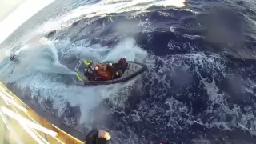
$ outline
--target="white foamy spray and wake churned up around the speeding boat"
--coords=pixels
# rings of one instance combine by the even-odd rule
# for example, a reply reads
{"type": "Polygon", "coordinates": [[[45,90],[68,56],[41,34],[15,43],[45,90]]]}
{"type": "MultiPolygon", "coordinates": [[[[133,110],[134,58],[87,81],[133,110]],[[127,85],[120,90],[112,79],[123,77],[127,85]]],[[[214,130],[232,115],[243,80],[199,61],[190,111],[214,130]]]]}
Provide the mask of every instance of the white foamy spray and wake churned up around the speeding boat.
{"type": "Polygon", "coordinates": [[[52,101],[52,108],[58,110],[59,117],[65,112],[67,102],[70,106],[80,106],[81,123],[90,122],[88,113],[98,106],[102,99],[114,98],[118,90],[132,83],[94,87],[66,85],[65,80],[74,76],[74,71],[59,62],[58,52],[65,58],[80,53],[81,59],[94,54],[94,57],[101,61],[116,61],[118,58],[126,57],[127,60],[142,62],[146,57],[146,51],[136,46],[133,38],[124,39],[108,50],[95,46],[74,46],[68,41],[63,43],[41,38],[38,42],[28,43],[17,56],[17,62],[2,62],[1,78],[6,83],[15,83],[22,91],[29,89],[31,98],[37,98],[42,107],[49,107],[46,106],[46,101],[52,101]],[[64,78],[62,74],[66,74],[64,78]]]}

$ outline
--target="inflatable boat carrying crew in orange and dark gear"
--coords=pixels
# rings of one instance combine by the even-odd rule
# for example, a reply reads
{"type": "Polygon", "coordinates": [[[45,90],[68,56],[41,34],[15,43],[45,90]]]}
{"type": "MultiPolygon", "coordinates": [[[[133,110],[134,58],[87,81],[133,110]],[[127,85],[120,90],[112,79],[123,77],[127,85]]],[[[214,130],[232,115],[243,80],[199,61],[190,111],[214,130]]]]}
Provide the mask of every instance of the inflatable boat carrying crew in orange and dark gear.
{"type": "Polygon", "coordinates": [[[118,62],[103,63],[80,60],[74,70],[79,82],[86,86],[97,86],[129,81],[146,71],[147,67],[121,58],[118,62]]]}

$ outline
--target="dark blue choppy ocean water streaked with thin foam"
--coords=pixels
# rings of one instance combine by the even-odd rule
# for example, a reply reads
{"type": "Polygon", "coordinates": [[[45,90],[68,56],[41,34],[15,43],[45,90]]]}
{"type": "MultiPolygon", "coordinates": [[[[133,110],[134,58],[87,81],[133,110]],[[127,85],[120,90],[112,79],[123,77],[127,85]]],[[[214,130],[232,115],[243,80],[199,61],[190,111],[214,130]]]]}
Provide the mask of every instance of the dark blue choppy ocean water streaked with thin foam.
{"type": "MultiPolygon", "coordinates": [[[[81,15],[45,36],[58,41],[55,46],[68,39],[69,50],[95,44],[100,50],[122,47],[126,38],[146,50],[142,62],[150,69],[128,86],[125,100],[118,91],[114,102],[104,98],[91,110],[86,125],[109,130],[111,143],[255,143],[255,10],[253,1],[191,0],[182,8],[149,6],[81,15]],[[120,99],[122,106],[115,103],[120,99]]],[[[79,57],[57,51],[59,62],[68,67],[79,57]]],[[[56,74],[56,81],[66,78],[56,74]]],[[[46,88],[40,90],[38,95],[46,88]]],[[[80,93],[75,90],[70,94],[80,93]]],[[[63,121],[75,126],[82,106],[77,110],[67,102],[63,109],[63,121]]]]}

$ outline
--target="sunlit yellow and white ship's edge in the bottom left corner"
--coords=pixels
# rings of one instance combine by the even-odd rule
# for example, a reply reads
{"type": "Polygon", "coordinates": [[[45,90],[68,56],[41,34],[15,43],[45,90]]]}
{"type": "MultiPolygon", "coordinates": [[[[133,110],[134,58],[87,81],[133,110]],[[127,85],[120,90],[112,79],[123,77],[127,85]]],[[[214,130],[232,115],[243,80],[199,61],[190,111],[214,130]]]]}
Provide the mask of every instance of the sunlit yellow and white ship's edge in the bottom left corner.
{"type": "Polygon", "coordinates": [[[0,117],[0,134],[2,134],[0,143],[83,143],[26,106],[2,82],[0,82],[0,117]]]}

